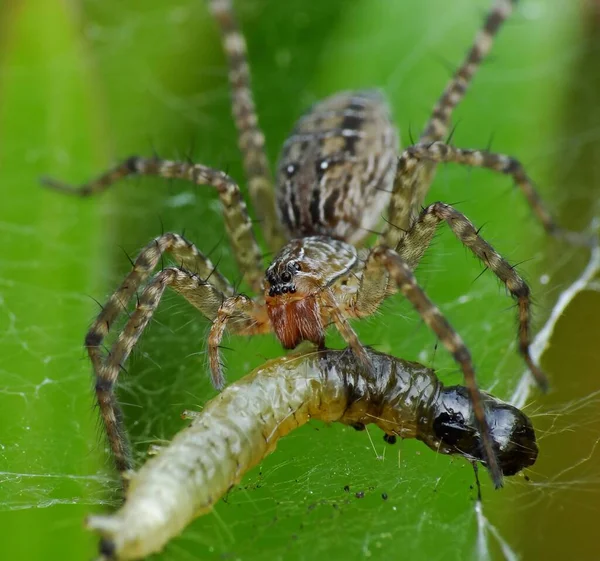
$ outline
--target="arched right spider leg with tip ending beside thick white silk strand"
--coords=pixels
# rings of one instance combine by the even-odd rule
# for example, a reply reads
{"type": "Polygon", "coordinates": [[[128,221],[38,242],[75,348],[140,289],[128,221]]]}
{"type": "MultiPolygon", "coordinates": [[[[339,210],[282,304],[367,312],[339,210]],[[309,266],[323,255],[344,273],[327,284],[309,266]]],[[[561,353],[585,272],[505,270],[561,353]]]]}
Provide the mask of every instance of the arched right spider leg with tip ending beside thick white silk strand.
{"type": "Polygon", "coordinates": [[[514,268],[494,250],[478,233],[469,219],[450,205],[434,203],[423,210],[419,220],[400,242],[398,254],[414,269],[429,246],[440,223],[446,222],[458,240],[469,248],[506,286],[517,300],[519,310],[518,341],[519,352],[531,370],[538,385],[547,389],[548,380],[539,366],[533,362],[531,346],[531,298],[529,286],[514,268]]]}

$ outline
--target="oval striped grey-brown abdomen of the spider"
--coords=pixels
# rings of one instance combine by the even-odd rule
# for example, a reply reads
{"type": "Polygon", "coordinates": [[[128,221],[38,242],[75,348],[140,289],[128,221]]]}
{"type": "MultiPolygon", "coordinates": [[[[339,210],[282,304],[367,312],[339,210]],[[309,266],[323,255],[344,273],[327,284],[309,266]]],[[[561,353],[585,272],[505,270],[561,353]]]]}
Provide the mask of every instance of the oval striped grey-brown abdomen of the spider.
{"type": "Polygon", "coordinates": [[[379,222],[396,173],[398,133],[383,95],[342,92],[296,123],[277,166],[277,207],[290,238],[357,243],[379,222]]]}

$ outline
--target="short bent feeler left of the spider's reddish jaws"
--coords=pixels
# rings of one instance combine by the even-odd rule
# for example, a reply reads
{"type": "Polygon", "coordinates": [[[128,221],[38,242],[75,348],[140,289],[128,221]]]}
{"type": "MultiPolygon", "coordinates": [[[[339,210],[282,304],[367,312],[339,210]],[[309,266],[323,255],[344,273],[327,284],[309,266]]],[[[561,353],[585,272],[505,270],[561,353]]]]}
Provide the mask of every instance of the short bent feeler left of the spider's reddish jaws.
{"type": "Polygon", "coordinates": [[[215,319],[208,336],[208,356],[212,383],[217,389],[223,389],[225,376],[219,347],[225,333],[229,328],[231,333],[237,335],[256,335],[271,331],[271,325],[264,305],[251,298],[238,294],[227,298],[215,314],[215,319]]]}

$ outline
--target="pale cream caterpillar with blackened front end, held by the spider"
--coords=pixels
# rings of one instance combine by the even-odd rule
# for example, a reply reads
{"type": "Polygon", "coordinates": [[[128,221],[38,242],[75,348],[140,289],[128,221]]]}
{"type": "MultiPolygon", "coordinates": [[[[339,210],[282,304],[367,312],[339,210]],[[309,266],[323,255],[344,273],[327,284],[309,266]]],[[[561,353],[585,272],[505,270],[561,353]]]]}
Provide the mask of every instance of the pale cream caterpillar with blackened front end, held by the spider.
{"type": "MultiPolygon", "coordinates": [[[[310,419],[359,430],[373,423],[388,442],[416,438],[436,452],[485,463],[466,388],[444,387],[433,370],[416,362],[367,352],[374,376],[352,353],[323,350],[271,360],[223,390],[131,475],[117,512],[88,517],[87,527],[101,535],[100,558],[141,559],[162,550],[273,452],[281,437],[310,419]]],[[[531,421],[482,396],[503,474],[533,465],[531,421]]]]}

